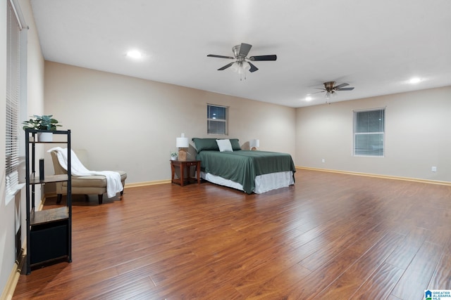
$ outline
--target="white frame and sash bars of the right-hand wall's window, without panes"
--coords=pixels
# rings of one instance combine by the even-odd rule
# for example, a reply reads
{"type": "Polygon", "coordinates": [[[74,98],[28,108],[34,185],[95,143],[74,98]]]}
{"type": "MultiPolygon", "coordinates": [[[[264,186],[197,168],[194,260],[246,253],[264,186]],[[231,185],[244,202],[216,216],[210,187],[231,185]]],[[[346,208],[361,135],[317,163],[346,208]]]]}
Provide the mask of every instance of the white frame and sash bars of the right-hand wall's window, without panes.
{"type": "Polygon", "coordinates": [[[352,137],[352,156],[356,157],[385,157],[385,107],[378,107],[378,108],[371,108],[367,110],[353,110],[353,116],[354,116],[354,134],[352,137]],[[379,127],[379,131],[361,131],[358,129],[358,122],[357,122],[357,115],[362,112],[382,112],[382,126],[379,127]],[[383,128],[381,128],[383,127],[383,128]],[[371,149],[363,149],[362,151],[357,150],[357,137],[358,136],[371,136],[371,135],[378,135],[382,136],[381,146],[382,149],[375,150],[371,153],[371,149]],[[364,152],[368,153],[364,153],[364,152]],[[380,151],[381,154],[378,154],[377,152],[380,151]]]}

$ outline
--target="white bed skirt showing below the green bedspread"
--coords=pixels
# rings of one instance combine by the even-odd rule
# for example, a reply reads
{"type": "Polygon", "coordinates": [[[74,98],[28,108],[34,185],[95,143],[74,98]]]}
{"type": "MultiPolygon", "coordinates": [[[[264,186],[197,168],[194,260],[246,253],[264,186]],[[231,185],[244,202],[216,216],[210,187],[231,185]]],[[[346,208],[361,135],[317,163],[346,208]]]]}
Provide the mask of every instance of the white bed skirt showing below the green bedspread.
{"type": "MultiPolygon", "coordinates": [[[[222,178],[221,176],[216,176],[205,172],[200,172],[200,176],[202,177],[202,179],[210,181],[211,183],[228,186],[229,188],[236,188],[237,190],[243,190],[240,183],[222,178]]],[[[295,180],[293,178],[292,171],[264,174],[259,175],[255,178],[255,189],[253,190],[253,192],[256,194],[261,194],[268,192],[268,190],[286,188],[293,184],[295,184],[295,180]]]]}

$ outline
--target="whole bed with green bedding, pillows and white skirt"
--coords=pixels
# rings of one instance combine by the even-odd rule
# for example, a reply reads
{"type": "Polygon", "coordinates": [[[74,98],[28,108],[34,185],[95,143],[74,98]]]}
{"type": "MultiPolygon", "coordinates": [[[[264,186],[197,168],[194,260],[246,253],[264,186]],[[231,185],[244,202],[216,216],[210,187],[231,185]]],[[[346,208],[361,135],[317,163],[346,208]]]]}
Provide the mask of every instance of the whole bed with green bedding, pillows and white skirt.
{"type": "Polygon", "coordinates": [[[266,193],[295,184],[295,164],[281,152],[241,150],[237,138],[192,138],[201,161],[200,176],[211,183],[266,193]]]}

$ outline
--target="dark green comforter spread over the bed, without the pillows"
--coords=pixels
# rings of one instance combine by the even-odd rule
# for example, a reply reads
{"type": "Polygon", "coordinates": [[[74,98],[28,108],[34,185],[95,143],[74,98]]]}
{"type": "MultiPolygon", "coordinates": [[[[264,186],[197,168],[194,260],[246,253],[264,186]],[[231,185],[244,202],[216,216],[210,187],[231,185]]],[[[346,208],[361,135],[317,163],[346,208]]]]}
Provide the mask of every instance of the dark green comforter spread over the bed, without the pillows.
{"type": "Polygon", "coordinates": [[[255,188],[255,177],[281,171],[292,171],[295,163],[288,153],[238,150],[219,152],[204,150],[197,154],[201,170],[240,183],[245,193],[255,188]]]}

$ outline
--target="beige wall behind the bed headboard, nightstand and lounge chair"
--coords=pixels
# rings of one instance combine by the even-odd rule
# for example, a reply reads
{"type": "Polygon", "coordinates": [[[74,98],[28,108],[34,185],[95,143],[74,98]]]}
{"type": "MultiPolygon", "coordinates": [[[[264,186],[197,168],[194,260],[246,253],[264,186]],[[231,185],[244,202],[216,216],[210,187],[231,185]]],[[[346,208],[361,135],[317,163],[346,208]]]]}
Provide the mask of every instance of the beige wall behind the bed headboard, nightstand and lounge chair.
{"type": "Polygon", "coordinates": [[[72,131],[73,149],[87,150],[89,169],[125,170],[127,183],[170,179],[180,133],[218,137],[206,134],[207,103],[230,107],[230,138],[259,138],[261,150],[294,157],[294,108],[45,63],[45,112],[72,131]]]}

